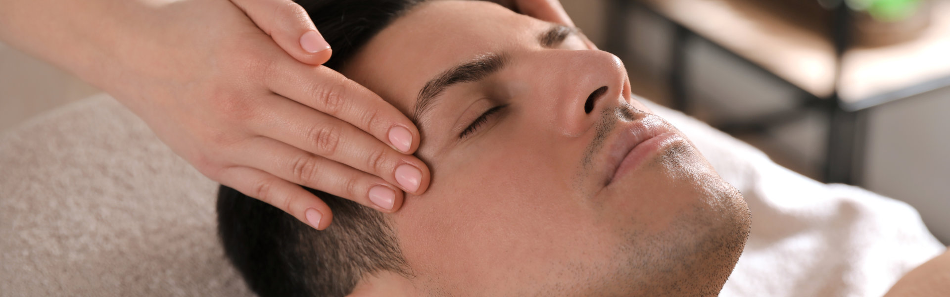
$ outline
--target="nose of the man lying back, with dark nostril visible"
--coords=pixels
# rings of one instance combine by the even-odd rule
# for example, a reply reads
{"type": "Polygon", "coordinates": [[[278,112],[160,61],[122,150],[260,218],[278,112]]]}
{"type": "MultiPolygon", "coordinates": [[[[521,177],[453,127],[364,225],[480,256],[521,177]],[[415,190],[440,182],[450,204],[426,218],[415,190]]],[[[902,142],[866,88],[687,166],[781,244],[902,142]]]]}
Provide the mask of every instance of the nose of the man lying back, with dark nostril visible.
{"type": "Polygon", "coordinates": [[[627,71],[620,59],[601,50],[551,50],[541,73],[549,74],[539,89],[551,100],[551,123],[566,136],[577,137],[590,129],[621,101],[629,102],[627,71]]]}

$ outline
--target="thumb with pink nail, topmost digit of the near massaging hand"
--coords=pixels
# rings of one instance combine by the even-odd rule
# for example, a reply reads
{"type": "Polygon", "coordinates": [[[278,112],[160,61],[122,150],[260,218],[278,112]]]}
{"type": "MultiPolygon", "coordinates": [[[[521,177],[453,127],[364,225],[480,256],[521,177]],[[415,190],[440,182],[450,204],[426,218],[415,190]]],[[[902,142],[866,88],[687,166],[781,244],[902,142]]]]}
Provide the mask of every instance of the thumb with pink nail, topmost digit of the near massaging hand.
{"type": "Polygon", "coordinates": [[[321,65],[330,60],[330,44],[316,30],[307,10],[291,0],[231,0],[260,30],[297,61],[321,65]]]}

